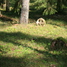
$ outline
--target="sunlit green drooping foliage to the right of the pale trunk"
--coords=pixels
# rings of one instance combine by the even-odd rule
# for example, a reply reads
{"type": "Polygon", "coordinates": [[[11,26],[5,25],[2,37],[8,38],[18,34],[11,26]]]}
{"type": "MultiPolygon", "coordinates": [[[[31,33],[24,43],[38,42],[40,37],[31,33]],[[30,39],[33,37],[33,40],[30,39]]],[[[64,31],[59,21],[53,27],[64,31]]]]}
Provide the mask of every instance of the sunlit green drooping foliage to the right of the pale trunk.
{"type": "Polygon", "coordinates": [[[48,1],[48,0],[36,0],[34,2],[35,9],[41,10],[43,9],[43,15],[51,15],[55,14],[56,11],[56,1],[48,1]]]}

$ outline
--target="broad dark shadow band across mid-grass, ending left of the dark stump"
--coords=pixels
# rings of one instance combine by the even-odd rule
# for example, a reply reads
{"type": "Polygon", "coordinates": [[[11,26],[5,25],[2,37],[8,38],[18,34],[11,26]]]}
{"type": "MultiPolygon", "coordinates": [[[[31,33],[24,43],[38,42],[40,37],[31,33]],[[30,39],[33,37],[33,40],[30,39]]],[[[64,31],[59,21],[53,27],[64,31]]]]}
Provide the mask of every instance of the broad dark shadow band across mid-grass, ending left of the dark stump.
{"type": "Polygon", "coordinates": [[[20,32],[17,32],[17,33],[0,32],[0,41],[13,43],[15,45],[21,45],[17,42],[17,40],[21,40],[21,39],[29,40],[29,41],[33,40],[36,43],[44,43],[44,44],[48,44],[52,40],[49,38],[32,36],[32,35],[24,34],[20,32]]]}

